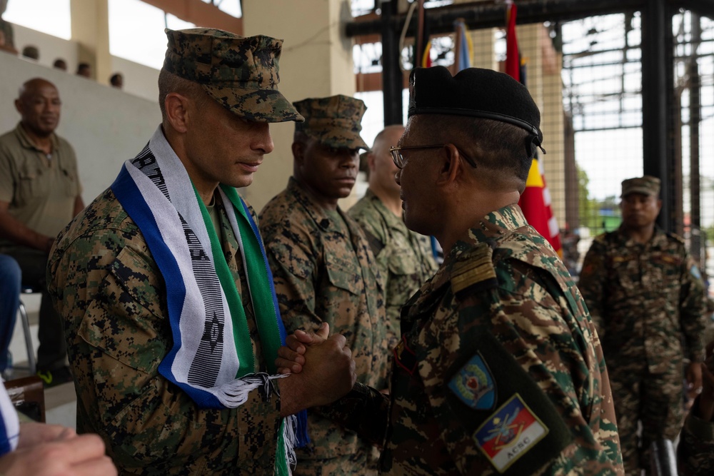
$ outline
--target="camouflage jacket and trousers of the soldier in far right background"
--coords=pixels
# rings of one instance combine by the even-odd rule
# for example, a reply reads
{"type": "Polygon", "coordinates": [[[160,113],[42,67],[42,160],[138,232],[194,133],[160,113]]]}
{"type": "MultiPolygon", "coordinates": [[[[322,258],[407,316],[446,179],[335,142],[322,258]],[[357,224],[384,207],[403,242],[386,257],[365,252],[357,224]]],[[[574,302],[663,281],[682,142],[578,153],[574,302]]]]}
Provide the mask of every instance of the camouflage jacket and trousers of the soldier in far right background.
{"type": "Polygon", "coordinates": [[[595,238],[578,286],[610,368],[625,470],[638,474],[650,443],[682,427],[683,358],[704,358],[703,283],[683,240],[655,229],[637,243],[620,227],[595,238]]]}

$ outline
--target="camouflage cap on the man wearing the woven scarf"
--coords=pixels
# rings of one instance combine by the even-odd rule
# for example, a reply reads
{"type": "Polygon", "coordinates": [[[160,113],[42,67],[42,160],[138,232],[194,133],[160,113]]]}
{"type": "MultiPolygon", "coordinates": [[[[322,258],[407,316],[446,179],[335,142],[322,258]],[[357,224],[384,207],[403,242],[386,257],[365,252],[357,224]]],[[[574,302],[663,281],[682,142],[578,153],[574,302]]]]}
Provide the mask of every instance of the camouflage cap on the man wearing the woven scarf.
{"type": "Polygon", "coordinates": [[[165,31],[169,73],[201,84],[221,106],[248,121],[303,120],[278,91],[283,40],[208,28],[165,31]]]}

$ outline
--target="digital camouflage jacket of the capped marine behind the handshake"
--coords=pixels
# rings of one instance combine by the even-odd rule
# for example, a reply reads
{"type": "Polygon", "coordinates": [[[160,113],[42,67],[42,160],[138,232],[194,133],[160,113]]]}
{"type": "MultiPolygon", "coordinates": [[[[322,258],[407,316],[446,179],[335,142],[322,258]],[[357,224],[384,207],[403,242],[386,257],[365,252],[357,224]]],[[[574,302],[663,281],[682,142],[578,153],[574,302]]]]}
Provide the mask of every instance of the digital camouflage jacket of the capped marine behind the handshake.
{"type": "MultiPolygon", "coordinates": [[[[374,257],[357,223],[339,211],[349,228],[338,224],[291,178],[285,191],[261,211],[261,234],[273,271],[278,305],[286,330],[316,330],[324,321],[331,333],[347,339],[357,380],[387,387],[384,300],[374,257]]],[[[312,451],[301,458],[352,455],[369,447],[353,432],[308,411],[312,451]]]]}

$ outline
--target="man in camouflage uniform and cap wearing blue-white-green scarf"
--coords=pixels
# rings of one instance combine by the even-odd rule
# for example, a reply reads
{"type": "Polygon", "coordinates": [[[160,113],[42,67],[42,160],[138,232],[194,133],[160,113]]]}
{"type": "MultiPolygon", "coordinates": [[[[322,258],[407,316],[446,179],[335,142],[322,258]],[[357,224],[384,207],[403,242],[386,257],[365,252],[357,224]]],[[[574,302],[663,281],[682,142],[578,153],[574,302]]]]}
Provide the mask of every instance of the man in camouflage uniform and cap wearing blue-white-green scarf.
{"type": "Polygon", "coordinates": [[[291,415],[347,393],[354,363],[338,335],[310,376],[274,366],[284,330],[235,187],[273,151],[269,123],[302,120],[277,88],[282,41],[166,34],[162,123],[49,263],[77,429],[102,437],[121,474],[287,475],[291,415]]]}

